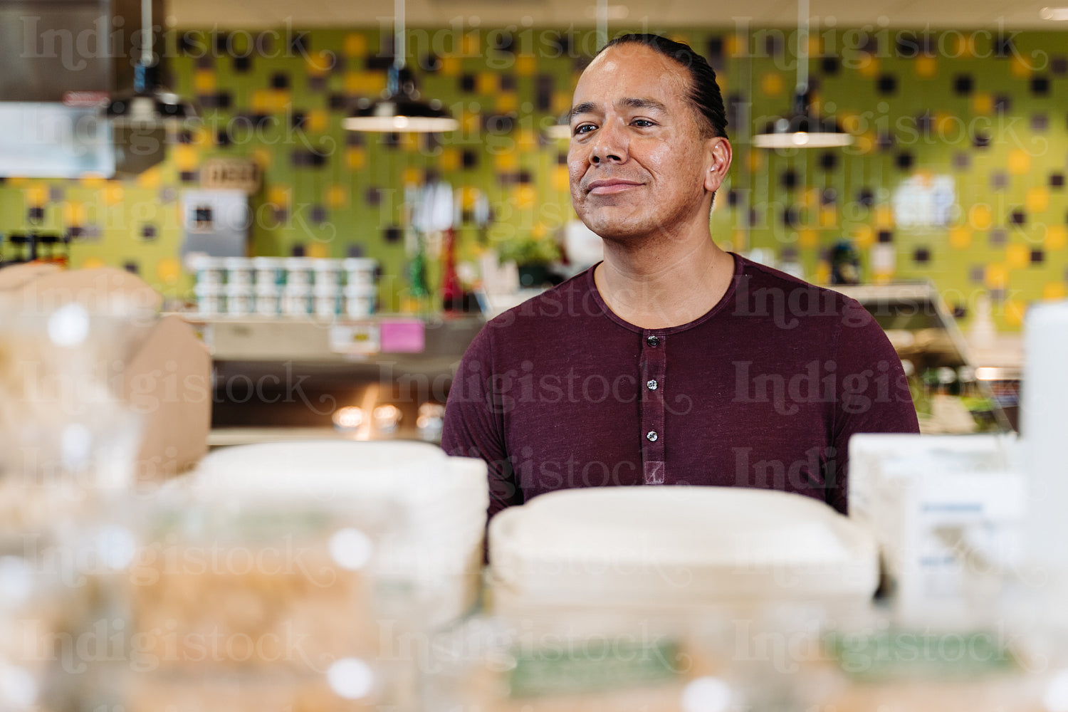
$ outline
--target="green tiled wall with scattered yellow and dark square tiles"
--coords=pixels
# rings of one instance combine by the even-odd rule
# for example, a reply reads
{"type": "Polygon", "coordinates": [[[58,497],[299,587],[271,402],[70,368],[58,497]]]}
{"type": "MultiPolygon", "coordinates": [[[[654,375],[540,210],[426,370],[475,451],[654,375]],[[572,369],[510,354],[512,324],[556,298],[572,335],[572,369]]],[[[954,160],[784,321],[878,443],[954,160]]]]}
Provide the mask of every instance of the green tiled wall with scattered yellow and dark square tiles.
{"type": "MultiPolygon", "coordinates": [[[[819,281],[835,241],[853,240],[865,263],[889,243],[896,267],[867,268],[869,280],[929,276],[964,322],[989,295],[1009,330],[1030,302],[1068,296],[1068,35],[814,27],[814,99],[858,141],[765,152],[749,139],[790,106],[795,33],[670,34],[708,57],[727,97],[735,165],[712,218],[724,247],[795,255],[819,281]],[[949,225],[895,224],[893,192],[914,175],[954,177],[949,225]]],[[[41,228],[78,236],[75,266],[126,266],[170,297],[188,296],[176,258],[180,193],[198,186],[205,159],[245,156],[264,175],[251,197],[252,254],[377,257],[387,308],[410,306],[405,183],[439,175],[467,205],[488,197],[488,231],[464,215],[460,259],[522,234],[551,239],[572,211],[566,143],[541,129],[568,108],[594,34],[411,29],[409,67],[461,129],[399,140],[347,132],[341,121],[354,101],[384,86],[390,41],[377,29],[172,32],[170,83],[197,100],[203,121],[174,131],[167,161],[137,178],[3,180],[0,232],[31,227],[41,208],[41,228]]]]}

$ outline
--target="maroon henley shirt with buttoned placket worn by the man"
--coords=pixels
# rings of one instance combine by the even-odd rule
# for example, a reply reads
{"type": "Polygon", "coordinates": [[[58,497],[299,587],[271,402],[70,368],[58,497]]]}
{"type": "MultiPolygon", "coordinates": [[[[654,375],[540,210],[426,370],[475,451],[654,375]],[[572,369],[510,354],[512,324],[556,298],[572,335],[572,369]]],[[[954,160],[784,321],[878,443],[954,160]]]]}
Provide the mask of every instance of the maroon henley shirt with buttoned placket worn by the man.
{"type": "Polygon", "coordinates": [[[640,329],[588,269],[491,319],[465,353],[442,447],[489,465],[489,516],[554,490],[717,485],[845,513],[849,437],[918,432],[908,382],[857,301],[734,255],[698,319],[640,329]]]}

